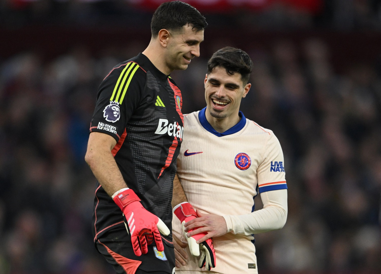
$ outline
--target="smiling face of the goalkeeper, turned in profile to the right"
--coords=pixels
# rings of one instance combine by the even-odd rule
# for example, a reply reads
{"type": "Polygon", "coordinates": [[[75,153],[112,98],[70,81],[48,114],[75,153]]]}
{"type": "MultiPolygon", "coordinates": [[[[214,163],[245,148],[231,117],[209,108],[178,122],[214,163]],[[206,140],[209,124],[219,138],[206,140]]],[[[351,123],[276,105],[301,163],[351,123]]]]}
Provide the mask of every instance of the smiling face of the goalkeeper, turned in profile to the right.
{"type": "Polygon", "coordinates": [[[200,56],[200,43],[203,40],[204,31],[195,31],[190,25],[183,26],[177,32],[171,31],[164,58],[168,70],[187,69],[191,60],[200,56]]]}

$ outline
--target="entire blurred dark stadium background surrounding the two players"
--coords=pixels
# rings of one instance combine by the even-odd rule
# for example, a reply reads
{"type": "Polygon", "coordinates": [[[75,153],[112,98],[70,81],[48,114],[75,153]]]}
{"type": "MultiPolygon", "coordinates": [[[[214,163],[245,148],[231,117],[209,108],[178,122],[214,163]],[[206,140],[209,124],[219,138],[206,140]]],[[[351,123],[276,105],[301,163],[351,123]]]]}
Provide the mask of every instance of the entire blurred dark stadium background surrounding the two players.
{"type": "MultiPolygon", "coordinates": [[[[92,245],[88,127],[99,83],[144,50],[160,2],[0,1],[0,274],[112,273],[92,245]]],[[[188,2],[209,27],[172,74],[183,113],[205,105],[211,54],[242,48],[255,65],[241,110],[285,154],[288,220],[256,235],[260,273],[381,273],[380,1],[188,2]]]]}

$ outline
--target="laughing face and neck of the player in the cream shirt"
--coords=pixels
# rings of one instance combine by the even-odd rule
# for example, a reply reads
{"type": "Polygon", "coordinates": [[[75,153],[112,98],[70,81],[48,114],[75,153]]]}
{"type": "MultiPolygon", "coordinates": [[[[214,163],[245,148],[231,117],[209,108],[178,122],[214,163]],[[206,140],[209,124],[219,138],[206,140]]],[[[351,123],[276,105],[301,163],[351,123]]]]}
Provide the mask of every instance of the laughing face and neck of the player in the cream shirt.
{"type": "Polygon", "coordinates": [[[229,75],[221,66],[207,74],[204,83],[207,101],[205,115],[212,127],[219,124],[227,130],[238,123],[241,99],[247,95],[251,84],[243,85],[241,74],[229,75]]]}

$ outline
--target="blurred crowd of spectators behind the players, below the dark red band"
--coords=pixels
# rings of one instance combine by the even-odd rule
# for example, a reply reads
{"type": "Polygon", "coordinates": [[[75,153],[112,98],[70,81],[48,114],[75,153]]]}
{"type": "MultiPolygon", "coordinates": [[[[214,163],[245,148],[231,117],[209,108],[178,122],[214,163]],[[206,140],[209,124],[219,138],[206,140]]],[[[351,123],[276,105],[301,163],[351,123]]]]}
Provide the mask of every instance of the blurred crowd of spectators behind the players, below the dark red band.
{"type": "MultiPolygon", "coordinates": [[[[102,54],[77,46],[50,59],[34,50],[0,59],[0,274],[112,273],[93,245],[95,178],[84,155],[98,86],[144,50],[133,44],[102,54]]],[[[208,45],[171,75],[184,114],[205,106],[210,54],[236,46],[224,37],[208,45]]],[[[241,111],[278,137],[288,183],[285,227],[255,235],[259,272],[381,273],[380,60],[348,56],[338,70],[337,48],[318,37],[295,43],[286,36],[243,50],[254,69],[241,111]]]]}

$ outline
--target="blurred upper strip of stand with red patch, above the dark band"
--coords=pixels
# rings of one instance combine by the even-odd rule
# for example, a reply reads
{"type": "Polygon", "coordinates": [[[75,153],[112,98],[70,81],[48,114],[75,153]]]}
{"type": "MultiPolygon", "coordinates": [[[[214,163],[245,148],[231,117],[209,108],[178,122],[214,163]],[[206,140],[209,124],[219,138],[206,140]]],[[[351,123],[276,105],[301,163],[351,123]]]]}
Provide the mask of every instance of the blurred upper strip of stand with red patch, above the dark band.
{"type": "MultiPolygon", "coordinates": [[[[149,27],[153,10],[164,0],[2,0],[0,25],[30,23],[149,27]],[[147,12],[148,11],[148,12],[147,12]],[[141,20],[143,18],[143,20],[141,20]]],[[[381,28],[380,0],[187,0],[207,15],[208,23],[256,29],[340,30],[381,28]],[[198,4],[198,5],[197,5],[198,4]],[[230,8],[229,8],[230,7],[230,8]]]]}

